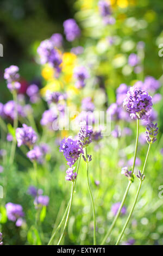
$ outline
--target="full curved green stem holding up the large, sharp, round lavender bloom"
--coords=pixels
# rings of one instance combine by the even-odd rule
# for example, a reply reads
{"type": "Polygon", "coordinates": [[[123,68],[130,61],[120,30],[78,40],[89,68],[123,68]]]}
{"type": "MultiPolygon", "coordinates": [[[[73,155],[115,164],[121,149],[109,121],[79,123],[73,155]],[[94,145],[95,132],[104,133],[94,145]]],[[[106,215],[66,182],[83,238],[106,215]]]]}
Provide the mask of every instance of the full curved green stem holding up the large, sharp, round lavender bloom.
{"type": "MultiPolygon", "coordinates": [[[[132,167],[132,174],[134,172],[134,168],[135,168],[135,161],[136,161],[136,155],[137,155],[137,145],[138,145],[138,141],[139,141],[139,119],[137,119],[137,130],[136,130],[136,142],[135,142],[135,153],[134,153],[134,162],[133,162],[133,167],[132,167]]],[[[118,217],[120,216],[120,213],[121,213],[121,210],[122,210],[122,207],[123,207],[123,204],[124,204],[124,201],[126,200],[126,197],[127,197],[127,194],[128,194],[128,191],[129,191],[129,188],[130,188],[130,185],[131,185],[131,181],[128,182],[128,186],[126,188],[126,191],[124,192],[124,196],[123,196],[123,199],[122,199],[122,202],[121,202],[121,205],[120,205],[120,208],[118,209],[117,211],[117,214],[116,216],[114,217],[114,221],[112,222],[111,226],[110,226],[110,229],[108,230],[108,233],[105,235],[101,245],[104,245],[106,239],[108,239],[108,236],[111,234],[111,231],[112,229],[115,227],[115,224],[117,222],[117,219],[118,217]]]]}

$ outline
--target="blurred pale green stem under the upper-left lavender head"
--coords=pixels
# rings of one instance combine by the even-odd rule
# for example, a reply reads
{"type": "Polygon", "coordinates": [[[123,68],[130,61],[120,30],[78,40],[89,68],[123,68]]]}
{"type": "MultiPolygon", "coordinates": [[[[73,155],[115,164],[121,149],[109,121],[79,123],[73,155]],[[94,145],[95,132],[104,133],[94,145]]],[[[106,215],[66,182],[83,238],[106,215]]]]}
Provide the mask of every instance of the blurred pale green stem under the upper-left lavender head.
{"type": "MultiPolygon", "coordinates": [[[[15,102],[15,108],[14,108],[14,130],[16,132],[17,125],[18,125],[18,119],[17,119],[17,93],[13,91],[13,100],[15,102]]],[[[12,140],[12,145],[11,145],[11,153],[10,153],[10,159],[9,163],[12,164],[14,161],[14,156],[15,156],[15,149],[16,149],[16,138],[14,137],[12,140]]]]}

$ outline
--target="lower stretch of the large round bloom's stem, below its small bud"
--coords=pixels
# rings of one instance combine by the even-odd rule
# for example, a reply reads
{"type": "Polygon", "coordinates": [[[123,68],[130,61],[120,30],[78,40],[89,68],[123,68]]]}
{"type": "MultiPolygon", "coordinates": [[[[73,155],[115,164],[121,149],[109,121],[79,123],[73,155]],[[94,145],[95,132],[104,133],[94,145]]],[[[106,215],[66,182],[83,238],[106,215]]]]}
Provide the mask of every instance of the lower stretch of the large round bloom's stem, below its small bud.
{"type": "Polygon", "coordinates": [[[103,239],[101,245],[104,245],[106,239],[107,239],[108,236],[111,234],[112,229],[115,227],[115,224],[116,224],[116,222],[117,222],[117,219],[118,219],[118,217],[119,217],[120,214],[121,214],[121,210],[122,210],[124,201],[126,200],[126,197],[127,197],[127,194],[128,194],[129,188],[130,188],[130,185],[131,185],[131,181],[128,182],[128,186],[127,186],[126,191],[125,191],[125,193],[124,193],[124,196],[123,196],[123,199],[122,199],[120,208],[118,209],[117,214],[116,214],[116,216],[115,216],[115,218],[114,218],[114,221],[112,222],[112,224],[111,224],[111,226],[110,226],[110,229],[108,230],[108,233],[105,235],[105,237],[104,237],[104,239],[103,239]]]}

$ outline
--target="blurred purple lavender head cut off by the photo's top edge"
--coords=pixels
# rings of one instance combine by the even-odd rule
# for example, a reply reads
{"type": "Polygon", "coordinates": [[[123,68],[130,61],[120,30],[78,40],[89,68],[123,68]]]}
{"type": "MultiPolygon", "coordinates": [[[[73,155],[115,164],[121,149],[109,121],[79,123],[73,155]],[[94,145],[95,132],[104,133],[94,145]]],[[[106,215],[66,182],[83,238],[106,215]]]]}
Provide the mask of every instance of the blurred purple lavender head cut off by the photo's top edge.
{"type": "Polygon", "coordinates": [[[114,17],[111,16],[112,10],[110,4],[104,0],[98,2],[99,13],[105,25],[112,25],[115,23],[114,17]]]}

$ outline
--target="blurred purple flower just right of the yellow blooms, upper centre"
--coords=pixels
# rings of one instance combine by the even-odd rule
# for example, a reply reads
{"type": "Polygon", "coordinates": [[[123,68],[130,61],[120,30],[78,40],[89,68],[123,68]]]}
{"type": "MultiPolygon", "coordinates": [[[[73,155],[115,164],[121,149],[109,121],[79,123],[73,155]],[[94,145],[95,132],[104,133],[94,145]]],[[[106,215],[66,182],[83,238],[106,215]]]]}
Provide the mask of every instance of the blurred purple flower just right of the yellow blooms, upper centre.
{"type": "Polygon", "coordinates": [[[74,78],[76,79],[76,87],[85,87],[85,80],[89,77],[89,74],[84,66],[77,66],[74,68],[74,78]]]}

